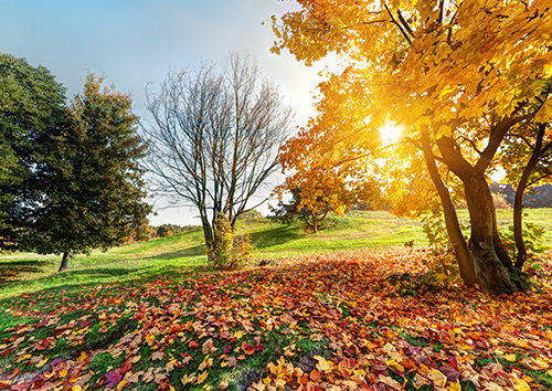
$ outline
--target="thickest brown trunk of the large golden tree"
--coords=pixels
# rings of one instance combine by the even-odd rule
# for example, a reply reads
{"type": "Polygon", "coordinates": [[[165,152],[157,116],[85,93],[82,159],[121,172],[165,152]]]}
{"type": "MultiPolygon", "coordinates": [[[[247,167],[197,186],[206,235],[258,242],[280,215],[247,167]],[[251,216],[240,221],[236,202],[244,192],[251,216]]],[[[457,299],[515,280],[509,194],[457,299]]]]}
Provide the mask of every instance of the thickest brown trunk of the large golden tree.
{"type": "Polygon", "coordinates": [[[517,292],[505,264],[511,264],[502,242],[498,239],[492,194],[482,172],[464,159],[456,142],[442,137],[437,146],[443,161],[463,181],[468,204],[471,235],[469,251],[476,260],[476,283],[493,295],[517,292]],[[507,260],[502,260],[506,255],[507,260]]]}

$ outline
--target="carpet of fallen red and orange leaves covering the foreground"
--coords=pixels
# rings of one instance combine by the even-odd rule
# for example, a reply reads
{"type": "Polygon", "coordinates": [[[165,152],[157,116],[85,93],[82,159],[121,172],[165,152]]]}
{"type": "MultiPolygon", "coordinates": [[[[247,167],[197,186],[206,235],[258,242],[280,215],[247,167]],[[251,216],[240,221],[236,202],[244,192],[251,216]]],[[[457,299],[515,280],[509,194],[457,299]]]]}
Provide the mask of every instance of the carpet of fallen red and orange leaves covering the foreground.
{"type": "Polygon", "coordinates": [[[418,284],[427,257],[361,249],[4,298],[0,388],[551,389],[551,258],[539,286],[490,297],[418,284]]]}

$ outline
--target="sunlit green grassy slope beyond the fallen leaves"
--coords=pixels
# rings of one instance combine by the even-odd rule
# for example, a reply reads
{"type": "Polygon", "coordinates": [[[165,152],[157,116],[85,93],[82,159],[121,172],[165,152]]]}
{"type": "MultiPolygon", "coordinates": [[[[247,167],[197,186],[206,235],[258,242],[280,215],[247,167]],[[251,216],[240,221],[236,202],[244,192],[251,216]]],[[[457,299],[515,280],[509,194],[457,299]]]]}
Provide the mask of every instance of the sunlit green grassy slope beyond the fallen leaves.
{"type": "MultiPolygon", "coordinates": [[[[459,211],[460,222],[467,224],[467,211],[459,211]]],[[[499,225],[507,228],[510,210],[498,211],[499,225]]],[[[545,229],[545,243],[552,246],[552,209],[528,210],[526,221],[545,229]]],[[[402,246],[414,240],[425,245],[426,240],[417,221],[396,218],[383,211],[354,211],[346,216],[330,215],[325,229],[306,233],[300,224],[282,225],[267,219],[243,222],[257,247],[255,257],[285,258],[331,251],[361,247],[402,246]]],[[[201,230],[160,237],[148,242],[115,247],[106,253],[93,252],[70,261],[68,271],[57,274],[59,256],[12,254],[0,256],[0,298],[23,292],[55,286],[77,286],[108,281],[131,281],[163,273],[170,268],[197,267],[206,262],[201,230]]]]}

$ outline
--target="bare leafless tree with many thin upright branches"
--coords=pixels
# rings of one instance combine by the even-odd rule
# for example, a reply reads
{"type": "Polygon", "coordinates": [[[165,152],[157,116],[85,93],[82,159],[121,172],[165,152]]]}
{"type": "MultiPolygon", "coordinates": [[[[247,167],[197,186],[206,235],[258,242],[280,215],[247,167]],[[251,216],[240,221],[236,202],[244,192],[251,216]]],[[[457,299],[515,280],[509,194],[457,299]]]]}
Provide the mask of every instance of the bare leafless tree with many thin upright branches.
{"type": "Polygon", "coordinates": [[[216,71],[170,72],[158,93],[147,92],[152,124],[149,170],[158,191],[199,210],[210,261],[216,220],[233,230],[255,192],[278,168],[278,149],[293,117],[277,85],[255,61],[233,53],[216,71]]]}

